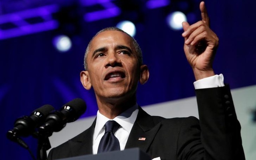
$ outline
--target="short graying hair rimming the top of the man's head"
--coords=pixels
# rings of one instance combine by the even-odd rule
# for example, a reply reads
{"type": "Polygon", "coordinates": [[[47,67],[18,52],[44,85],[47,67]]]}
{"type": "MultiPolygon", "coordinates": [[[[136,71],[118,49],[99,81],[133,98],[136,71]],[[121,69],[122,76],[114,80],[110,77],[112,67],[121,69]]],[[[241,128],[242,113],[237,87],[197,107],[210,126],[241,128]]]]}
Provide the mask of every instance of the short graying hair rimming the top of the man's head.
{"type": "MultiPolygon", "coordinates": [[[[138,54],[139,65],[141,66],[141,65],[143,64],[143,60],[142,60],[142,51],[141,51],[140,46],[139,46],[139,44],[137,43],[137,41],[136,41],[132,36],[130,36],[130,34],[124,32],[123,30],[121,30],[121,29],[119,29],[119,28],[117,28],[117,27],[107,27],[107,28],[104,28],[104,29],[100,30],[99,32],[97,32],[97,33],[95,34],[95,36],[97,36],[97,35],[100,34],[101,32],[109,31],[109,30],[116,30],[116,31],[119,31],[119,32],[123,32],[123,33],[127,34],[127,35],[131,38],[133,47],[135,48],[135,51],[136,51],[137,54],[138,54]]],[[[85,69],[85,70],[87,70],[87,68],[88,68],[86,59],[87,59],[88,52],[89,52],[89,50],[90,50],[90,45],[91,45],[92,40],[94,39],[95,36],[93,36],[92,39],[90,40],[90,42],[89,42],[89,44],[88,44],[88,46],[87,46],[87,48],[86,48],[85,54],[84,54],[84,69],[85,69]]]]}

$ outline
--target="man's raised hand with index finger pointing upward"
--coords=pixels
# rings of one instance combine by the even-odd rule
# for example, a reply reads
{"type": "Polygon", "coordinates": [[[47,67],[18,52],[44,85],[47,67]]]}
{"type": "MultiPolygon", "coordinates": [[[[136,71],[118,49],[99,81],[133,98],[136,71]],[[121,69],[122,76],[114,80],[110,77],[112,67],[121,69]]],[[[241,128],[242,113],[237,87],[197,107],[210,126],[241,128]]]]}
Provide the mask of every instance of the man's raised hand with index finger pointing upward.
{"type": "Polygon", "coordinates": [[[196,80],[214,75],[212,62],[219,39],[209,27],[209,17],[204,2],[200,3],[202,20],[189,25],[183,22],[184,52],[194,71],[196,80]]]}

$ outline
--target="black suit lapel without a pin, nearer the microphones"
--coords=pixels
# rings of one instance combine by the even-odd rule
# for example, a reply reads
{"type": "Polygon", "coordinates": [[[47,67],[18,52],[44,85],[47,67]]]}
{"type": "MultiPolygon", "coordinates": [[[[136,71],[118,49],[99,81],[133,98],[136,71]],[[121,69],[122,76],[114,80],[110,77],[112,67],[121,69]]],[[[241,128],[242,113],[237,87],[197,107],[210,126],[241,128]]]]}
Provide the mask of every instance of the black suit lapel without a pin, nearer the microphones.
{"type": "Polygon", "coordinates": [[[92,126],[82,132],[77,137],[69,140],[69,146],[72,150],[72,156],[81,156],[85,154],[92,154],[92,138],[96,119],[92,123],[92,126]]]}

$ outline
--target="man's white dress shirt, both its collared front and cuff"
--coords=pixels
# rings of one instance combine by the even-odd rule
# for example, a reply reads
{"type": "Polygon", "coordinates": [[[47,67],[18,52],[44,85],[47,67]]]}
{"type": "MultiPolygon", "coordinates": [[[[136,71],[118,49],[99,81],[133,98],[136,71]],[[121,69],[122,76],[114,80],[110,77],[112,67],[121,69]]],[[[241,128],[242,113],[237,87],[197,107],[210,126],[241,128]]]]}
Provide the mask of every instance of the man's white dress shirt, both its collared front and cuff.
{"type": "MultiPolygon", "coordinates": [[[[214,88],[214,87],[222,87],[224,86],[224,77],[222,74],[215,75],[207,78],[203,78],[201,80],[197,80],[194,82],[195,89],[202,88],[214,88]]],[[[114,134],[116,138],[118,138],[120,143],[120,150],[124,150],[126,142],[128,140],[128,136],[132,130],[132,126],[138,115],[138,104],[132,106],[122,114],[116,116],[113,120],[120,124],[120,127],[114,134]]],[[[92,142],[92,152],[93,154],[97,154],[98,146],[100,144],[100,140],[105,133],[105,123],[110,120],[106,116],[97,112],[96,125],[93,134],[93,142],[92,142]]]]}

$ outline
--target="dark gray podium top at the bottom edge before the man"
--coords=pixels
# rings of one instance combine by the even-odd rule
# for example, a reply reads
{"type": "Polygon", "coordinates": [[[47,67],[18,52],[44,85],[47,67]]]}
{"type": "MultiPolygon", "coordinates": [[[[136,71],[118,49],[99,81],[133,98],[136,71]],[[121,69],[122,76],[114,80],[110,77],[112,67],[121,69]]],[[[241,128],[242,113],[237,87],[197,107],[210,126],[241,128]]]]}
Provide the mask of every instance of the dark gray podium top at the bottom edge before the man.
{"type": "Polygon", "coordinates": [[[151,160],[151,158],[140,148],[129,148],[122,151],[103,152],[58,160],[151,160]]]}

